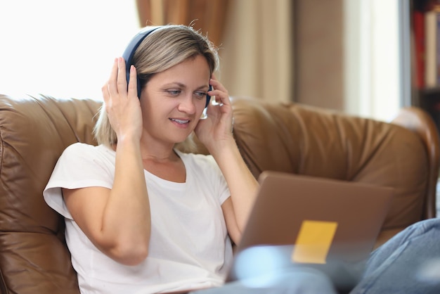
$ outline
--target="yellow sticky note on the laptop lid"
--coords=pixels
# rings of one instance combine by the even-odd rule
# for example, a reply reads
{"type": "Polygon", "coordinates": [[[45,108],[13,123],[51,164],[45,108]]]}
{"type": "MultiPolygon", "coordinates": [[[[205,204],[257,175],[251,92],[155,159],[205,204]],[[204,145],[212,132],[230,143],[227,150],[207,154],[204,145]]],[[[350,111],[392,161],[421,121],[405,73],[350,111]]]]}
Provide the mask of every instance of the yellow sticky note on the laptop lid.
{"type": "Polygon", "coordinates": [[[325,264],[336,229],[337,222],[302,222],[293,248],[292,261],[325,264]]]}

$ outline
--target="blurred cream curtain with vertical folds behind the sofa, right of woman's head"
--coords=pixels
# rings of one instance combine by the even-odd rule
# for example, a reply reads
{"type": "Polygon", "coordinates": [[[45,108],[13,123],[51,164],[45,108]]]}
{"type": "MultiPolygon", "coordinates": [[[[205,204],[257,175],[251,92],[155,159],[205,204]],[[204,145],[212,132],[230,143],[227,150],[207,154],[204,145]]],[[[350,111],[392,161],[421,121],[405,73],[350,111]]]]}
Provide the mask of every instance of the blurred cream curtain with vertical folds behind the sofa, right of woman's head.
{"type": "Polygon", "coordinates": [[[293,1],[230,1],[219,79],[231,96],[293,99],[293,1]]]}

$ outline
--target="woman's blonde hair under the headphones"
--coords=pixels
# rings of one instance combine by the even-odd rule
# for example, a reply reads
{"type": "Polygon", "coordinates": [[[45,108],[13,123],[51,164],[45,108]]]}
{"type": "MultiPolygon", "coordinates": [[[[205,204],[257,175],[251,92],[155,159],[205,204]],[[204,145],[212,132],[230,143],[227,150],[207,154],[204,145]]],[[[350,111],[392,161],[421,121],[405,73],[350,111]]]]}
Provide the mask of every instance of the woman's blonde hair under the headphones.
{"type": "MultiPolygon", "coordinates": [[[[164,25],[151,32],[138,46],[133,58],[141,81],[141,89],[158,72],[172,68],[188,58],[195,58],[198,55],[206,58],[211,74],[217,70],[219,56],[216,48],[207,37],[195,31],[193,27],[164,25]]],[[[110,125],[104,105],[99,110],[93,135],[98,144],[110,147],[117,143],[116,133],[110,125]]],[[[188,140],[191,138],[192,136],[189,136],[188,140]]],[[[184,149],[188,150],[193,143],[188,141],[183,142],[183,145],[184,149]]]]}

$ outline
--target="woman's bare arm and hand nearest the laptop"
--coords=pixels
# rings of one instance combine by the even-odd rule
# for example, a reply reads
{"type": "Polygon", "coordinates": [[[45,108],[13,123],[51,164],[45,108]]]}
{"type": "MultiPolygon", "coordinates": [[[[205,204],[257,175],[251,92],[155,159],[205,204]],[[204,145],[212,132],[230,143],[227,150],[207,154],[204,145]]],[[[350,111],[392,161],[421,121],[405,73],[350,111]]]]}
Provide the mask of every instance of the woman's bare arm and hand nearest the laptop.
{"type": "Polygon", "coordinates": [[[238,151],[238,146],[232,134],[232,106],[228,91],[216,79],[211,79],[214,87],[209,91],[219,105],[209,105],[207,120],[199,122],[195,132],[207,147],[220,167],[231,191],[222,205],[228,233],[235,243],[241,238],[247,218],[250,215],[254,199],[257,196],[259,184],[238,151]]]}

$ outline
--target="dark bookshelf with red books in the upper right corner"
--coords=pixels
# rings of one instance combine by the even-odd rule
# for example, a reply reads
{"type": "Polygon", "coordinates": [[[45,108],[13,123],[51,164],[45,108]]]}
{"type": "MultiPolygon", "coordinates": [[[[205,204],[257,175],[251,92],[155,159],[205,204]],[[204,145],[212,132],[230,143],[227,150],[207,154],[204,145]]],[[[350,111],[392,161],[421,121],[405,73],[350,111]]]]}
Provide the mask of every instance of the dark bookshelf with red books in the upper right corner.
{"type": "Polygon", "coordinates": [[[411,0],[409,12],[411,105],[440,130],[440,0],[411,0]]]}

